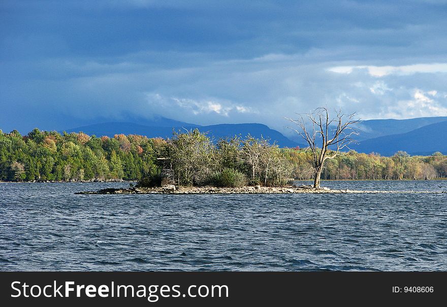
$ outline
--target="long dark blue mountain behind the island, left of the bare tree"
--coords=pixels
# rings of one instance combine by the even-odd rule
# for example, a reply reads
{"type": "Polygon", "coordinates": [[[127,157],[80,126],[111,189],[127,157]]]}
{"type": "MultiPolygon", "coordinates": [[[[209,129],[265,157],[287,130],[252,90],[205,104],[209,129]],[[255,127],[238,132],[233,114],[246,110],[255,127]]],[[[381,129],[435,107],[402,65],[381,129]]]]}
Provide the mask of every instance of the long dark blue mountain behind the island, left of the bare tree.
{"type": "MultiPolygon", "coordinates": [[[[175,122],[175,121],[173,121],[175,122]]],[[[270,139],[272,142],[276,142],[280,147],[296,147],[300,145],[296,142],[289,140],[284,137],[279,131],[270,129],[268,126],[263,124],[219,124],[219,125],[210,125],[210,126],[200,126],[194,124],[183,123],[182,125],[168,125],[169,121],[165,121],[165,126],[146,126],[141,124],[135,124],[130,122],[109,122],[109,123],[101,123],[101,124],[92,124],[82,127],[77,127],[73,129],[67,129],[66,132],[79,132],[82,131],[87,134],[94,134],[98,137],[102,135],[107,135],[108,137],[113,137],[115,134],[124,133],[124,134],[141,134],[146,135],[148,138],[171,138],[172,130],[178,130],[182,128],[185,129],[194,129],[198,128],[201,132],[209,132],[211,137],[215,139],[223,138],[223,137],[234,137],[234,135],[241,134],[245,137],[247,134],[251,134],[255,138],[260,138],[261,135],[270,139]]],[[[176,122],[179,123],[179,122],[176,122]]],[[[180,122],[181,123],[181,122],[180,122]]]]}

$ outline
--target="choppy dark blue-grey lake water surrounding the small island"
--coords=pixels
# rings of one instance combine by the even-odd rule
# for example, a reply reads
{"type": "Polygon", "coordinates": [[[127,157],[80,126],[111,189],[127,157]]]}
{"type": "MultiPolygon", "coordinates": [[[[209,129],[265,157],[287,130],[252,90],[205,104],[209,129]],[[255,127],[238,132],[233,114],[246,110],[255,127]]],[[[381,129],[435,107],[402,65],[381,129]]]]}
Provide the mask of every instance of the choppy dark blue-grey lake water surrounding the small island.
{"type": "Polygon", "coordinates": [[[74,194],[126,186],[0,183],[0,270],[447,269],[447,194],[74,194]]]}

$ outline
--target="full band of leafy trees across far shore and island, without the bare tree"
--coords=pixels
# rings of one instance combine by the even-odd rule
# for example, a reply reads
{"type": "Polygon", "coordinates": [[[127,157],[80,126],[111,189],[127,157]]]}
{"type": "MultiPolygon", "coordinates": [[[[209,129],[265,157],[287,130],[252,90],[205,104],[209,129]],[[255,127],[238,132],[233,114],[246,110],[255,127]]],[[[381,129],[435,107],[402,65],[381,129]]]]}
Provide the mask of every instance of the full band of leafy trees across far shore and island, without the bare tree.
{"type": "MultiPolygon", "coordinates": [[[[250,135],[213,140],[198,130],[174,131],[172,138],[113,138],[34,129],[27,135],[0,130],[0,181],[139,180],[157,184],[172,168],[181,185],[282,185],[311,179],[312,153],[279,148],[250,135]]],[[[447,156],[391,157],[346,152],[328,160],[323,180],[400,180],[447,177],[447,156]]]]}

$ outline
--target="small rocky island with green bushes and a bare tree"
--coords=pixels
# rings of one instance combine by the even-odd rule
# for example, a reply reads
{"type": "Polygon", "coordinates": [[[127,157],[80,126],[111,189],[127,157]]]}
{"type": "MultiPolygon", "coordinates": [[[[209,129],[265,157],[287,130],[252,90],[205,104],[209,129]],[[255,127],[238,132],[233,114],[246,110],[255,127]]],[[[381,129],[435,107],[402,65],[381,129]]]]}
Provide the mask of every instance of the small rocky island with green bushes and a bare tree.
{"type": "MultiPolygon", "coordinates": [[[[320,186],[325,162],[352,154],[355,114],[336,112],[330,119],[326,108],[318,108],[298,120],[294,129],[309,145],[313,185],[295,186],[283,151],[269,140],[246,138],[211,140],[198,129],[180,133],[165,142],[157,153],[158,168],[149,170],[137,186],[107,188],[76,194],[277,194],[277,193],[408,193],[402,191],[333,190],[320,186]],[[310,128],[306,122],[312,123],[310,128]],[[331,127],[335,128],[331,129],[331,127]],[[319,143],[319,146],[317,146],[319,143]],[[158,170],[157,170],[158,169],[158,170]]],[[[411,191],[410,193],[415,193],[411,191]]],[[[419,191],[416,193],[430,193],[419,191]]],[[[437,192],[441,193],[441,192],[437,192]]]]}

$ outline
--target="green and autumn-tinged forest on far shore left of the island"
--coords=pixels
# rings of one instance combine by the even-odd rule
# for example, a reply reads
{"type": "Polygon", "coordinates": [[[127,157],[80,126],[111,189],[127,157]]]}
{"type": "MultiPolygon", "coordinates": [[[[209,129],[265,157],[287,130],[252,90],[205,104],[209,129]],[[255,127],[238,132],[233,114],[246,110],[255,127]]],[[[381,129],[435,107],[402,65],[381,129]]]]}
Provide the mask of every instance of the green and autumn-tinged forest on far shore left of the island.
{"type": "Polygon", "coordinates": [[[34,129],[22,136],[0,130],[0,180],[138,180],[156,172],[154,156],[164,142],[132,134],[97,138],[34,129]]]}

